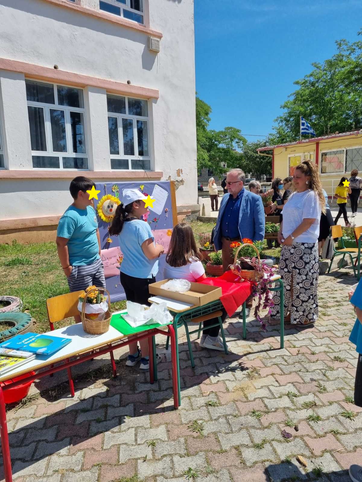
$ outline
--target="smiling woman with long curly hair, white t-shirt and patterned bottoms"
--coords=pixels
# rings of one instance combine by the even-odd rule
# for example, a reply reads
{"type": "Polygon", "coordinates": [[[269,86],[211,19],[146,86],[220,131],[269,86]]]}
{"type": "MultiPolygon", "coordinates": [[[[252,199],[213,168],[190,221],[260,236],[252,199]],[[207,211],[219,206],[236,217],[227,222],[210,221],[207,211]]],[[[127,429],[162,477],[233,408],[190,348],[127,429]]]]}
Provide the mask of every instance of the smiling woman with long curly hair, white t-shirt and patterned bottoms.
{"type": "MultiPolygon", "coordinates": [[[[318,319],[318,236],[320,213],[325,213],[322,186],[314,162],[295,168],[295,191],[284,205],[278,232],[282,245],[279,274],[284,281],[284,320],[306,326],[318,319]]],[[[275,292],[272,317],[279,317],[279,293],[275,292]]]]}

